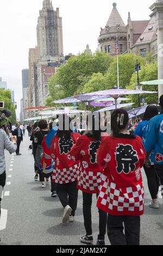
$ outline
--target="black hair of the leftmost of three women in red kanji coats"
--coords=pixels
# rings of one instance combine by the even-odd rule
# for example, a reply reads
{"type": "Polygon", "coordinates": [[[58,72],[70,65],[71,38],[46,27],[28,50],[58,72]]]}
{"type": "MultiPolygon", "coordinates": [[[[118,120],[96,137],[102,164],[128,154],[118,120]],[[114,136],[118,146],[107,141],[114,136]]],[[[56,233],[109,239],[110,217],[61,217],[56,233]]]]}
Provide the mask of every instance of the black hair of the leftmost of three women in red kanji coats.
{"type": "Polygon", "coordinates": [[[57,137],[58,138],[70,138],[71,137],[71,133],[73,132],[73,130],[71,130],[70,127],[70,123],[71,123],[71,118],[68,117],[67,115],[59,115],[59,130],[57,132],[57,137]],[[67,130],[67,127],[65,127],[65,120],[68,120],[68,125],[69,125],[69,130],[67,130]],[[61,122],[62,122],[62,128],[61,128],[61,122]]]}

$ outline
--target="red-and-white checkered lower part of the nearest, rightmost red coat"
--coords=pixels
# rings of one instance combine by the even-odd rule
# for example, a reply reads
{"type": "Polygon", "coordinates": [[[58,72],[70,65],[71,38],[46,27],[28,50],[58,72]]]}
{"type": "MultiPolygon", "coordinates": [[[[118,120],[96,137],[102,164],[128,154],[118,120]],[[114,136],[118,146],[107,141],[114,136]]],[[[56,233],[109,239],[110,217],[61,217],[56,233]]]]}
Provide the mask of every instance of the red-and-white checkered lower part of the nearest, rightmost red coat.
{"type": "Polygon", "coordinates": [[[143,211],[144,188],[141,185],[118,189],[114,182],[109,182],[107,176],[102,175],[102,183],[99,188],[98,206],[108,212],[118,215],[134,215],[143,211]]]}

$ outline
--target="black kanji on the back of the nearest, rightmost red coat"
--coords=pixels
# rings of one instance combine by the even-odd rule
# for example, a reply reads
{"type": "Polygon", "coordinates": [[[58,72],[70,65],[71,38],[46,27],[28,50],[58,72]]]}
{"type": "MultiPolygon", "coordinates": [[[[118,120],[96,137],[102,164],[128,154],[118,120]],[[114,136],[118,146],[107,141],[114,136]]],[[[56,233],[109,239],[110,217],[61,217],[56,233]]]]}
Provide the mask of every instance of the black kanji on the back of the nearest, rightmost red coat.
{"type": "Polygon", "coordinates": [[[133,173],[136,168],[136,163],[139,161],[137,152],[131,145],[119,144],[116,150],[117,172],[121,174],[133,173]]]}

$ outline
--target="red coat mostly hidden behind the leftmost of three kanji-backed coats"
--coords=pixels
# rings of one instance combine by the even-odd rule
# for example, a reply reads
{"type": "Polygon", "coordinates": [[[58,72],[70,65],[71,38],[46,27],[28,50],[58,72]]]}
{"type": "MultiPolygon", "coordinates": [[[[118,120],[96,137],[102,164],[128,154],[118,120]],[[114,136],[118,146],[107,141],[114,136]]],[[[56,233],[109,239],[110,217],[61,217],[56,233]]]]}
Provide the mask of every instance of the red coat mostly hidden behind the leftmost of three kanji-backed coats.
{"type": "Polygon", "coordinates": [[[46,140],[46,136],[43,138],[43,141],[42,141],[43,155],[42,155],[39,169],[41,170],[41,172],[45,174],[50,174],[53,172],[51,149],[47,147],[45,140],[46,140]]]}

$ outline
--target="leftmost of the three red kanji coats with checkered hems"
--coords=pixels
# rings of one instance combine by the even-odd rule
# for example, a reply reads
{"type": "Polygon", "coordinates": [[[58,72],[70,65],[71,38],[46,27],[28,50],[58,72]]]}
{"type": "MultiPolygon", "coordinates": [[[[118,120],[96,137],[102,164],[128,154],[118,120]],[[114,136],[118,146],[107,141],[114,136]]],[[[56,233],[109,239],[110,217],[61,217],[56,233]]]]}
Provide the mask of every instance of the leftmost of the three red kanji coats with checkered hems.
{"type": "Polygon", "coordinates": [[[58,184],[66,184],[77,180],[79,170],[78,162],[68,159],[68,154],[74,144],[77,143],[79,133],[71,133],[71,137],[54,137],[51,144],[51,157],[55,160],[52,181],[58,184]]]}

